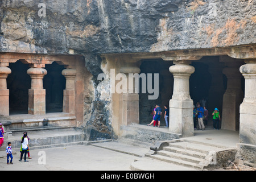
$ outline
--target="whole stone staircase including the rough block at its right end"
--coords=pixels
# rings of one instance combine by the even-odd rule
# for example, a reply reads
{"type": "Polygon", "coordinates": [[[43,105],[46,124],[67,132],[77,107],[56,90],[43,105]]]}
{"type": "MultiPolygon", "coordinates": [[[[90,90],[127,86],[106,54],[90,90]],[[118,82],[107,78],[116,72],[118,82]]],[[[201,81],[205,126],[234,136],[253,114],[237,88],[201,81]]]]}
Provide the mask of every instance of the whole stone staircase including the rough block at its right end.
{"type": "Polygon", "coordinates": [[[235,155],[235,148],[179,139],[157,142],[145,157],[203,170],[225,166],[235,155]]]}

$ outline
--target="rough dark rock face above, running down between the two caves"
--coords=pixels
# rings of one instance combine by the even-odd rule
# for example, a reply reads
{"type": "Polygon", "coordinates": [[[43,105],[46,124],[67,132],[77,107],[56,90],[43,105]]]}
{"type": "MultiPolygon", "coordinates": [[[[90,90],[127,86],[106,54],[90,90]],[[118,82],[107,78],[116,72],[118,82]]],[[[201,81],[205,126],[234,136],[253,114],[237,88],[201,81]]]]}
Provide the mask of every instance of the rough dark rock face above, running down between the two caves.
{"type": "Polygon", "coordinates": [[[0,52],[84,55],[93,75],[85,119],[92,135],[109,138],[110,101],[96,81],[103,72],[98,54],[255,44],[255,6],[253,0],[2,0],[0,52]]]}

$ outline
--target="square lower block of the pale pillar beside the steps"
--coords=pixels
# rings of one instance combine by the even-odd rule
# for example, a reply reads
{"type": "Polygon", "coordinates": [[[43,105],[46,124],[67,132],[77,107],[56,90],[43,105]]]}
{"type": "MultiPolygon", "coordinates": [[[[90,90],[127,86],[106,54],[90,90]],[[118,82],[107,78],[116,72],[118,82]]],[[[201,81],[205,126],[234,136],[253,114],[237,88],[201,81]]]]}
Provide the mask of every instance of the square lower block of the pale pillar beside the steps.
{"type": "Polygon", "coordinates": [[[169,131],[182,137],[194,136],[192,100],[170,100],[169,131]]]}

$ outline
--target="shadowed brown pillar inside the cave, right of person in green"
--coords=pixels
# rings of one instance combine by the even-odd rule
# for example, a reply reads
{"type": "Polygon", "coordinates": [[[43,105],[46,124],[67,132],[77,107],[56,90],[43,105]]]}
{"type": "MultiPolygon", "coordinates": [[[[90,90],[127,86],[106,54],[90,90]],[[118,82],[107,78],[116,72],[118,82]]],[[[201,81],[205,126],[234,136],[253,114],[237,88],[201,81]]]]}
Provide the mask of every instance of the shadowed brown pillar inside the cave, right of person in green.
{"type": "Polygon", "coordinates": [[[223,95],[221,129],[237,131],[240,124],[239,108],[243,101],[242,75],[239,71],[242,63],[233,61],[225,64],[228,67],[223,69],[223,73],[228,78],[228,83],[223,95]]]}

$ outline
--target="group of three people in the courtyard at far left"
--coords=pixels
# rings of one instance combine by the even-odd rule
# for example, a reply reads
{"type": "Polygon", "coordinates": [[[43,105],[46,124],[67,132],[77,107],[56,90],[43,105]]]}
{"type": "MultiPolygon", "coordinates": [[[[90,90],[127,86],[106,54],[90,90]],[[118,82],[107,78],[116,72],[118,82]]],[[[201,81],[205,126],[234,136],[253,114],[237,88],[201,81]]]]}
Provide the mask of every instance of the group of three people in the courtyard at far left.
{"type": "MultiPolygon", "coordinates": [[[[2,147],[3,144],[3,139],[4,139],[4,131],[3,131],[3,125],[2,123],[0,123],[0,147],[2,147]]],[[[19,161],[22,161],[23,155],[24,155],[24,162],[28,162],[27,159],[27,155],[29,159],[32,159],[30,157],[30,152],[29,149],[30,147],[28,146],[28,141],[30,140],[30,138],[28,138],[27,133],[24,132],[23,133],[23,137],[22,137],[22,141],[21,141],[21,147],[20,147],[20,159],[19,161]]],[[[7,157],[7,164],[13,164],[13,151],[11,149],[11,142],[7,143],[7,147],[6,147],[6,157],[7,157]],[[9,162],[10,159],[10,162],[9,162]]]]}

